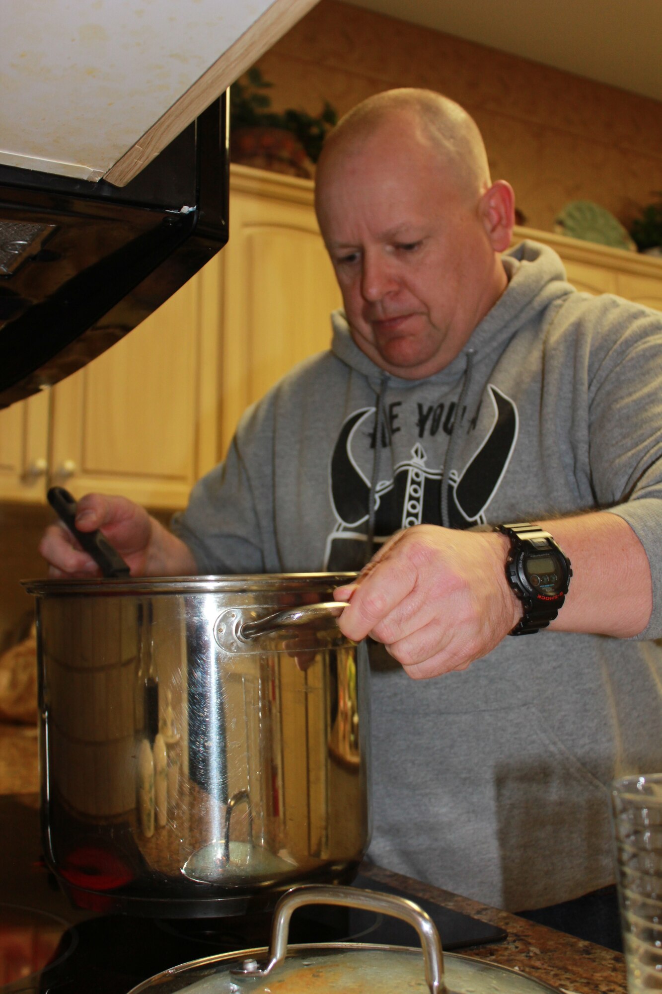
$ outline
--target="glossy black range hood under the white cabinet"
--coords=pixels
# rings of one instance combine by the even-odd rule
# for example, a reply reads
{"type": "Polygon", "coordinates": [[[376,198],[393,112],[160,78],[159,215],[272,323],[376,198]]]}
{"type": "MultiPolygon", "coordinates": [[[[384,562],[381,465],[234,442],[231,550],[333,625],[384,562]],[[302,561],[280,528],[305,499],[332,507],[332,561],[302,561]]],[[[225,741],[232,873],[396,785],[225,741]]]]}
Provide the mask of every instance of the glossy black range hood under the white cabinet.
{"type": "Polygon", "coordinates": [[[0,408],[123,337],[228,241],[228,93],[126,186],[0,165],[0,408]]]}

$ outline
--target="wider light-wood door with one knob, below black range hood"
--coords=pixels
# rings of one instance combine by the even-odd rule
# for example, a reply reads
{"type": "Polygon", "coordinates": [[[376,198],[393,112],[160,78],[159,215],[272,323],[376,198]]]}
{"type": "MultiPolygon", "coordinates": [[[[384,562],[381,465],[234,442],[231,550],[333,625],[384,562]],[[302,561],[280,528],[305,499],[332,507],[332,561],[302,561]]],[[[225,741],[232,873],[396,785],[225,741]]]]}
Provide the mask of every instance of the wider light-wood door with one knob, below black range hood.
{"type": "Polygon", "coordinates": [[[53,482],[186,504],[200,468],[200,278],[54,389],[53,482]]]}

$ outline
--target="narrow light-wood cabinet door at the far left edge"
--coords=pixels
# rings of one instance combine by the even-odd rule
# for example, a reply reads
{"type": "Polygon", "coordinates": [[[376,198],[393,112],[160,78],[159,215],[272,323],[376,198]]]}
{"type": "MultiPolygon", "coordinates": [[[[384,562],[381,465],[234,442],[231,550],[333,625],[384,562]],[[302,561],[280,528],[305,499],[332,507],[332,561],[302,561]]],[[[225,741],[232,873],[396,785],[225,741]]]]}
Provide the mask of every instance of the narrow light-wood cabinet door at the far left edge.
{"type": "Polygon", "coordinates": [[[48,436],[48,392],[0,411],[1,498],[44,503],[48,436]]]}

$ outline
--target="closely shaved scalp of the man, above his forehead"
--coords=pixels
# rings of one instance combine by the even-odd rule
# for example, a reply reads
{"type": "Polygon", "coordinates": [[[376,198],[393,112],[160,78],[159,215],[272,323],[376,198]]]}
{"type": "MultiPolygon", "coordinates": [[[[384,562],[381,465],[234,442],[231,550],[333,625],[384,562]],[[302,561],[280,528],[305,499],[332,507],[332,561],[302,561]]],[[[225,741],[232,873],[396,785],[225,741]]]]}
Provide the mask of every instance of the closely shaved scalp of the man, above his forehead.
{"type": "Polygon", "coordinates": [[[458,103],[430,89],[390,89],[353,107],[328,135],[317,165],[322,185],[338,159],[360,155],[378,135],[428,146],[448,182],[479,198],[491,184],[478,126],[458,103]]]}

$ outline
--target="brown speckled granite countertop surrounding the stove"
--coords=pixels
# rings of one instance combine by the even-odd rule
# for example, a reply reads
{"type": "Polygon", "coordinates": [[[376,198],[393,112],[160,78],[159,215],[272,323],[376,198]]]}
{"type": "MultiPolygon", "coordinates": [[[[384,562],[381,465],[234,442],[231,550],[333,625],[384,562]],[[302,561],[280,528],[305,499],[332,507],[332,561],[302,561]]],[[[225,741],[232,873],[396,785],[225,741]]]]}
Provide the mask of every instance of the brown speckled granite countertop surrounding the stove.
{"type": "MultiPolygon", "coordinates": [[[[36,729],[0,723],[0,794],[34,794],[38,790],[36,729]]],[[[413,901],[417,896],[507,931],[504,941],[462,950],[465,955],[521,970],[572,994],[626,994],[620,953],[381,867],[368,865],[361,870],[366,876],[407,891],[413,901]]]]}

